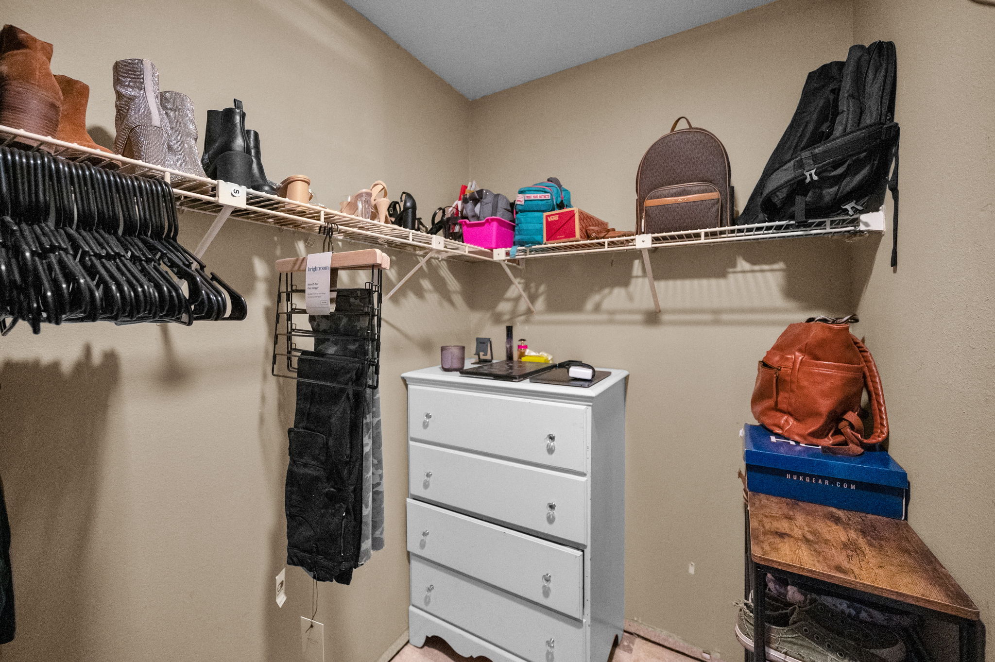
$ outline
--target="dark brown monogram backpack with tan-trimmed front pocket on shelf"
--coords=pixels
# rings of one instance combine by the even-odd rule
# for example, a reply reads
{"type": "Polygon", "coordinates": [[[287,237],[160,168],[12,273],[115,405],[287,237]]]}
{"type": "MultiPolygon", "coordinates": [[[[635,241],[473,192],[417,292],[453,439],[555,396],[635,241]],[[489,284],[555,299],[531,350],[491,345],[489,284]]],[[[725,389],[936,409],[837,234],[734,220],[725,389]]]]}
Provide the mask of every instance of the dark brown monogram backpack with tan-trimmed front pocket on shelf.
{"type": "Polygon", "coordinates": [[[729,157],[710,131],[678,117],[653,143],[636,172],[636,232],[656,235],[729,225],[729,157]],[[688,122],[679,129],[678,122],[688,122]]]}

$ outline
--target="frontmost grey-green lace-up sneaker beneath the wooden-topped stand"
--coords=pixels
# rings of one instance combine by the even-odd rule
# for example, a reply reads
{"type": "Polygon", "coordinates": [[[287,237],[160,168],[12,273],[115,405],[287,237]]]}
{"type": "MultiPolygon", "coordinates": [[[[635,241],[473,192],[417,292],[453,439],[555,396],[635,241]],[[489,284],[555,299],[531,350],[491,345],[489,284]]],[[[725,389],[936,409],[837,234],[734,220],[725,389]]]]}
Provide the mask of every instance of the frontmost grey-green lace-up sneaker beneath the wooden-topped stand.
{"type": "MultiPolygon", "coordinates": [[[[753,606],[740,601],[736,638],[753,650],[753,606]]],[[[767,641],[765,657],[770,662],[885,662],[884,658],[847,641],[812,620],[800,607],[781,609],[771,604],[766,610],[767,641]]]]}

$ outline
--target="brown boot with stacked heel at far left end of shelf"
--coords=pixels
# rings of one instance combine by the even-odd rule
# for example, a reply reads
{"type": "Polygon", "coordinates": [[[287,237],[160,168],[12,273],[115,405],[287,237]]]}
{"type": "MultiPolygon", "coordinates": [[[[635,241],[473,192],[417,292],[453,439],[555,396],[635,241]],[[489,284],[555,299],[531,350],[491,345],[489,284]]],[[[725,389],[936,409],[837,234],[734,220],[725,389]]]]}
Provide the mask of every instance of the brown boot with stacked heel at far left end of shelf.
{"type": "MultiPolygon", "coordinates": [[[[0,124],[54,136],[62,90],[52,76],[52,45],[20,28],[0,31],[0,124]]],[[[23,141],[22,141],[23,142],[23,141]]]]}

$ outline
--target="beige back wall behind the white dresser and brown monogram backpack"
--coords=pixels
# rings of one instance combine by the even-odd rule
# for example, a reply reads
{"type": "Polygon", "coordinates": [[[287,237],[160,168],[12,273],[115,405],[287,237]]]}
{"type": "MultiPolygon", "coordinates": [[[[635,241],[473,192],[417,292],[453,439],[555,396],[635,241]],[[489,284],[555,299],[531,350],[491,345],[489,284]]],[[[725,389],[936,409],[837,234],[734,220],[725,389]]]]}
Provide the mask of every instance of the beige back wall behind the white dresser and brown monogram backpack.
{"type": "MultiPolygon", "coordinates": [[[[849,0],[782,0],[475,100],[471,174],[502,192],[556,175],[574,204],[631,230],[639,160],[688,115],[724,143],[741,206],[805,75],[846,57],[852,20],[849,0]]],[[[532,316],[497,269],[471,305],[479,335],[502,339],[510,323],[558,360],[631,372],[626,614],[735,659],[737,430],[755,362],[788,323],[853,309],[850,247],[669,248],[652,264],[659,315],[632,253],[527,260],[532,316]]]]}

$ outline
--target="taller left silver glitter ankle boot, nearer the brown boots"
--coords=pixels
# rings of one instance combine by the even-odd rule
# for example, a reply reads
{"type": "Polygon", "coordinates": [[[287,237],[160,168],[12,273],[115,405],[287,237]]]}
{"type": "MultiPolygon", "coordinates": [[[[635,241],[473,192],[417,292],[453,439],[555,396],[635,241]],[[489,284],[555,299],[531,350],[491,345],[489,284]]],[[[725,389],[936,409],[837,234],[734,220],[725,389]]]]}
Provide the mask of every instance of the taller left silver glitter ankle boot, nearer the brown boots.
{"type": "Polygon", "coordinates": [[[169,120],[159,105],[159,73],[148,60],[114,63],[114,151],[154,165],[168,160],[169,120]]]}

